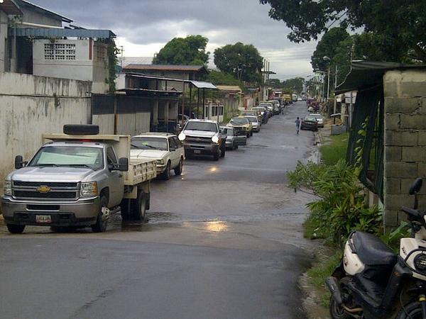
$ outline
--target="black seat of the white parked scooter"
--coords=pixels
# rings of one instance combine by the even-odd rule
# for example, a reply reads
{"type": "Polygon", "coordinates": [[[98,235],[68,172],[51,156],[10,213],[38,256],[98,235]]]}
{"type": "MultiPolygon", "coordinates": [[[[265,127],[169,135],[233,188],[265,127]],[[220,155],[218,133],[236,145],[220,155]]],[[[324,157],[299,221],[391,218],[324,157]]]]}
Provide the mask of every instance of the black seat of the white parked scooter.
{"type": "Polygon", "coordinates": [[[368,266],[393,266],[398,260],[397,255],[374,235],[354,232],[351,240],[359,259],[368,266]]]}

